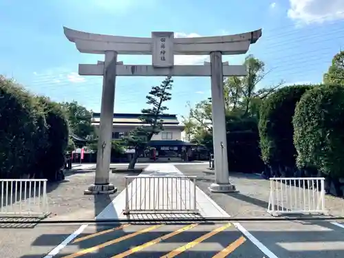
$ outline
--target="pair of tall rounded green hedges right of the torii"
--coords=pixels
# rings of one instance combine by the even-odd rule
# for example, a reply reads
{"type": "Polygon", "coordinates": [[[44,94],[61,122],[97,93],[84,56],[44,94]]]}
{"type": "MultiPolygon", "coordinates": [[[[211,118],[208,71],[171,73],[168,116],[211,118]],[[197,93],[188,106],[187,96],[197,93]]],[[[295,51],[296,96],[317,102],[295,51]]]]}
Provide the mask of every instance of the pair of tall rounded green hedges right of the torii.
{"type": "Polygon", "coordinates": [[[344,87],[283,87],[261,105],[261,158],[270,167],[344,177],[344,87]]]}

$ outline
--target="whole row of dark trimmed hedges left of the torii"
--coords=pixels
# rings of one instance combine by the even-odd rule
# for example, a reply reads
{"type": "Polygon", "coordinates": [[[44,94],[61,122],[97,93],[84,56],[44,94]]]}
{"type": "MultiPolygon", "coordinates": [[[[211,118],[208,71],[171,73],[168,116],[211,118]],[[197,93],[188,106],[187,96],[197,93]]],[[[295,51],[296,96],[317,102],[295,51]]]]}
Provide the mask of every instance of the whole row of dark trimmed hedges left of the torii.
{"type": "Polygon", "coordinates": [[[58,103],[0,76],[0,178],[56,179],[68,134],[58,103]]]}

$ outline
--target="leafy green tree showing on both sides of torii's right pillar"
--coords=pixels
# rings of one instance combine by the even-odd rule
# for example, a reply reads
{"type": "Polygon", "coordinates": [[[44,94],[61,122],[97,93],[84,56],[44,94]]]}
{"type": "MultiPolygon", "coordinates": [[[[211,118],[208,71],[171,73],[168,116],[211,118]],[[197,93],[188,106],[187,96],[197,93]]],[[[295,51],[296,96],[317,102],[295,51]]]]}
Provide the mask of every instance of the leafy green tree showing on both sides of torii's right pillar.
{"type": "MultiPolygon", "coordinates": [[[[270,71],[265,71],[265,64],[255,56],[248,55],[245,58],[244,65],[247,67],[248,74],[246,76],[228,77],[224,79],[224,101],[226,114],[235,117],[249,117],[259,115],[259,106],[261,99],[275,92],[275,90],[283,85],[283,82],[270,87],[257,90],[257,85],[263,80],[270,71]]],[[[211,98],[202,100],[195,107],[189,106],[189,116],[184,116],[184,125],[195,138],[204,132],[211,133],[211,98]],[[197,130],[196,130],[197,129],[197,130]]],[[[199,138],[199,137],[197,137],[199,138]]]]}

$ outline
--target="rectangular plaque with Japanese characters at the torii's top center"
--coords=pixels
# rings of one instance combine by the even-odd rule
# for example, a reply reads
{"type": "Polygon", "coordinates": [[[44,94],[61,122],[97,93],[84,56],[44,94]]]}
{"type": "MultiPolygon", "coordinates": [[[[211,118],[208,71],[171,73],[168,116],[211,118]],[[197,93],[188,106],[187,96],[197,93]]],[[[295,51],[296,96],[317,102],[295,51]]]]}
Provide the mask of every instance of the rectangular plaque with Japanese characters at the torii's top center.
{"type": "Polygon", "coordinates": [[[152,64],[154,67],[173,67],[173,32],[152,32],[152,64]]]}

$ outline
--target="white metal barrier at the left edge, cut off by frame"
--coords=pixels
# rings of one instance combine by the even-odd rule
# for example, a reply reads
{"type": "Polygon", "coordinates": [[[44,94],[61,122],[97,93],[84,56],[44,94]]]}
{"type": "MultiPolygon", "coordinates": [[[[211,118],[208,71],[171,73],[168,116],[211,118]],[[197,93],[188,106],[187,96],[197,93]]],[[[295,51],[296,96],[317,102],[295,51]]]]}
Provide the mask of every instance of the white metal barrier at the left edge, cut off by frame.
{"type": "Polygon", "coordinates": [[[0,179],[0,217],[48,215],[46,179],[0,179]]]}

